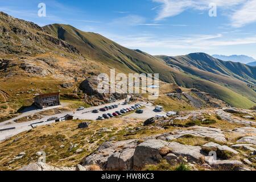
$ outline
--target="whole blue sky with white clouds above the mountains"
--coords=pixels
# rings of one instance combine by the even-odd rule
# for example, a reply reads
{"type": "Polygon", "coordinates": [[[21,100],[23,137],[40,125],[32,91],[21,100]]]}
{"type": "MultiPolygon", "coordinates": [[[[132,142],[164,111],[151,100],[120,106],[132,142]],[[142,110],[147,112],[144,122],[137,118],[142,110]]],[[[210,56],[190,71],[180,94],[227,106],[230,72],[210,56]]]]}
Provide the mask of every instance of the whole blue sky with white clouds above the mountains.
{"type": "Polygon", "coordinates": [[[256,59],[256,0],[0,0],[0,11],[40,26],[71,24],[152,55],[248,55],[256,59]],[[46,4],[46,17],[38,4],[46,4]],[[217,16],[209,16],[209,4],[217,16]],[[212,6],[211,6],[212,7],[212,6]]]}

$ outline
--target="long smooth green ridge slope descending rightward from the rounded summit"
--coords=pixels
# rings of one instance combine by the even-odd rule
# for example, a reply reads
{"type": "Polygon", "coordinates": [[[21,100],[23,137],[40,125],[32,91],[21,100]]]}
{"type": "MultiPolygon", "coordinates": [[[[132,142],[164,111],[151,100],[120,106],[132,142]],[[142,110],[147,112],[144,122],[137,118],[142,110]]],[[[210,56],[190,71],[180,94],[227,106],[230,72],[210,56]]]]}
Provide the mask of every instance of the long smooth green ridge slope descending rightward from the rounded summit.
{"type": "Polygon", "coordinates": [[[127,49],[99,34],[80,31],[65,24],[51,24],[45,26],[44,29],[77,47],[87,59],[96,60],[96,62],[108,65],[109,68],[116,68],[125,73],[131,71],[160,73],[159,76],[162,81],[173,82],[187,88],[197,88],[204,92],[212,93],[214,96],[227,101],[230,105],[240,105],[241,107],[254,105],[250,99],[252,100],[255,93],[251,90],[246,90],[251,94],[248,94],[249,97],[247,97],[247,94],[243,96],[239,93],[244,93],[244,90],[236,93],[237,89],[232,87],[226,88],[225,85],[214,84],[214,82],[204,80],[198,75],[188,75],[180,72],[175,68],[168,67],[162,59],[156,59],[154,56],[139,50],[127,49]]]}

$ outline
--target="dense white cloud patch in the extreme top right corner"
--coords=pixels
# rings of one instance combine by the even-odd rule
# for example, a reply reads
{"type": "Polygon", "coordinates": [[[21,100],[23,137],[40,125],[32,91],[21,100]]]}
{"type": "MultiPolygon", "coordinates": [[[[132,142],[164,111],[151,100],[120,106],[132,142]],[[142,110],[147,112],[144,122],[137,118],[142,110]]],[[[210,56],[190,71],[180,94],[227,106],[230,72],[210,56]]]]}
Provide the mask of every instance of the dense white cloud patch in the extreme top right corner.
{"type": "Polygon", "coordinates": [[[256,22],[256,0],[246,2],[240,10],[235,11],[231,20],[233,27],[242,27],[256,22]]]}

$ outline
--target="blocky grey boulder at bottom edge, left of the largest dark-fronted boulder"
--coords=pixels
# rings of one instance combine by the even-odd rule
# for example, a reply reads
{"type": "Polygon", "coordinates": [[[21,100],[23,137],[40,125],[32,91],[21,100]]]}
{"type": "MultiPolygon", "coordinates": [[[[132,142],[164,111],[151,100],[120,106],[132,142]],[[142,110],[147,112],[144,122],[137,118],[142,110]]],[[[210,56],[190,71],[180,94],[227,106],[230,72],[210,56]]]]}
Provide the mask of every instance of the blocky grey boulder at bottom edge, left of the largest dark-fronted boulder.
{"type": "Polygon", "coordinates": [[[115,152],[108,158],[106,170],[109,171],[130,171],[133,169],[134,148],[115,152]]]}

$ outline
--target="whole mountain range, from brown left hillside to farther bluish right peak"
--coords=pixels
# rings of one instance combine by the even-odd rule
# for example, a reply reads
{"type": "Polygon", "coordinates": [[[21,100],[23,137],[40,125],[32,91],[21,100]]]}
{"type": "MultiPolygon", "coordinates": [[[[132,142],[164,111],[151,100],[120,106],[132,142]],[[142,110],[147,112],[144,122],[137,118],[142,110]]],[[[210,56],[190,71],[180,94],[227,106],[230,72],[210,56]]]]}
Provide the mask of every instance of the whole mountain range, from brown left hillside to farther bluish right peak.
{"type": "Polygon", "coordinates": [[[164,82],[199,89],[232,106],[255,106],[256,67],[205,53],[152,56],[70,25],[40,27],[5,13],[0,13],[0,40],[0,90],[10,97],[12,108],[31,100],[29,89],[72,92],[59,85],[109,73],[110,68],[126,74],[159,73],[164,82]],[[19,92],[27,92],[26,99],[19,92]]]}

